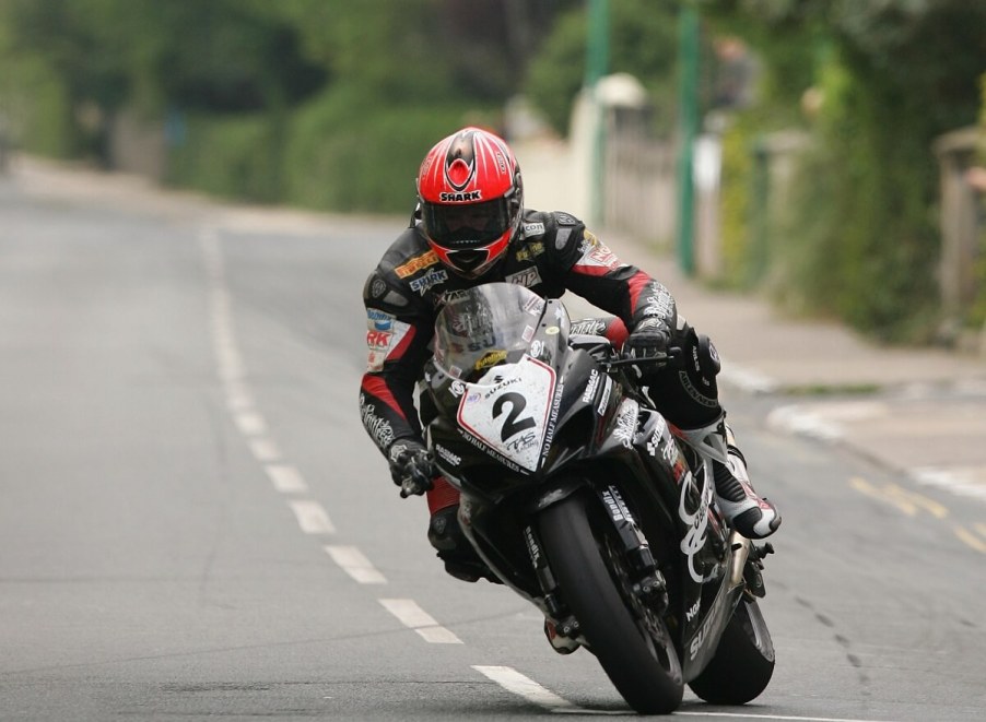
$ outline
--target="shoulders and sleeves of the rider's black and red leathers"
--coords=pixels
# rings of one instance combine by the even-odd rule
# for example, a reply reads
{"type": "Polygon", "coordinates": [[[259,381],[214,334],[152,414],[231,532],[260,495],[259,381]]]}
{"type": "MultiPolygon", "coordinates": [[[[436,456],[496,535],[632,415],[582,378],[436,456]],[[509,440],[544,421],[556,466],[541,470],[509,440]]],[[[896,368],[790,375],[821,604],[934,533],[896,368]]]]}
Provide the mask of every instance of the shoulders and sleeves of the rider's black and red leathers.
{"type": "Polygon", "coordinates": [[[576,218],[526,210],[504,258],[478,280],[445,268],[420,232],[407,228],[384,255],[363,291],[369,357],[360,393],[363,425],[386,455],[399,439],[421,440],[414,386],[446,294],[505,281],[540,296],[566,289],[613,313],[632,329],[655,318],[677,328],[674,300],[664,285],[627,265],[576,218]]]}

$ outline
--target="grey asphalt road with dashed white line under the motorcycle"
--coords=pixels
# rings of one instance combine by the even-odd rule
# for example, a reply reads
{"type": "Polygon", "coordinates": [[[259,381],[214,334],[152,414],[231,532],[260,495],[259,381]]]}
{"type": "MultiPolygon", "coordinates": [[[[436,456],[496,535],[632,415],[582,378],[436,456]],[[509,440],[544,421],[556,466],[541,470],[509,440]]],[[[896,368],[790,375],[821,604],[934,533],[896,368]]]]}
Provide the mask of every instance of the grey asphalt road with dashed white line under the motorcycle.
{"type": "MultiPolygon", "coordinates": [[[[444,575],[363,431],[399,221],[37,190],[0,180],[0,719],[629,714],[533,607],[444,575]]],[[[984,556],[950,525],[982,505],[866,494],[901,480],[778,436],[783,403],[730,399],[785,514],[774,679],[678,715],[984,719],[984,556]]]]}

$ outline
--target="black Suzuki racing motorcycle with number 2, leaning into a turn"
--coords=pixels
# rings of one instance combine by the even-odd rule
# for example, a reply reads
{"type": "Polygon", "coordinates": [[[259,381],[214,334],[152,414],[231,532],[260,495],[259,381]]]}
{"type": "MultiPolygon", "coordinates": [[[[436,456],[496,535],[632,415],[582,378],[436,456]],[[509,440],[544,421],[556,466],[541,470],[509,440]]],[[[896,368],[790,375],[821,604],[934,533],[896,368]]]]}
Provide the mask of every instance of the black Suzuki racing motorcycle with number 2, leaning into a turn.
{"type": "Polygon", "coordinates": [[[647,363],[667,359],[574,333],[561,301],[524,286],[456,292],[425,369],[425,438],[479,556],[634,710],[670,713],[684,685],[742,705],[774,670],[758,606],[773,549],[728,526],[711,461],[630,376],[647,363]]]}

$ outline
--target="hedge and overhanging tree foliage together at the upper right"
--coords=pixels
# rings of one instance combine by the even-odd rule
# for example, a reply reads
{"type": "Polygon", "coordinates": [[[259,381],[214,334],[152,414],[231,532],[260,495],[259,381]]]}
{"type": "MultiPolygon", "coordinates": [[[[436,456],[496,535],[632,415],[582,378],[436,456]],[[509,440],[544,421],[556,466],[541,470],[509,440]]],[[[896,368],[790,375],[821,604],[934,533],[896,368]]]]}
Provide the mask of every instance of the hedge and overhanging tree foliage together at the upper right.
{"type": "MultiPolygon", "coordinates": [[[[822,98],[801,118],[811,151],[780,224],[779,293],[888,340],[926,336],[934,328],[939,242],[931,143],[975,120],[986,4],[721,0],[709,7],[767,59],[766,104],[799,107],[809,85],[822,98]]],[[[775,117],[785,116],[791,118],[775,117]]]]}

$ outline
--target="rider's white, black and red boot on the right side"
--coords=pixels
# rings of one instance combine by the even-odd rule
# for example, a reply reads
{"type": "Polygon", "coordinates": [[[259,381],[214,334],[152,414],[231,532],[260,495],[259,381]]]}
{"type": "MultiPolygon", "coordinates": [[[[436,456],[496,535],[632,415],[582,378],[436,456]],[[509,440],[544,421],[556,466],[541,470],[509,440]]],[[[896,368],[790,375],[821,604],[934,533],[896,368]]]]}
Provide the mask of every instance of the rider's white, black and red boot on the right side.
{"type": "Polygon", "coordinates": [[[685,440],[712,460],[716,502],[726,520],[747,538],[764,538],[780,525],[777,508],[750,484],[747,462],[723,414],[713,424],[681,429],[685,440]]]}

